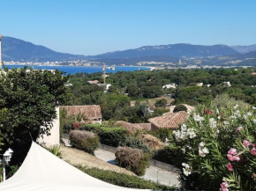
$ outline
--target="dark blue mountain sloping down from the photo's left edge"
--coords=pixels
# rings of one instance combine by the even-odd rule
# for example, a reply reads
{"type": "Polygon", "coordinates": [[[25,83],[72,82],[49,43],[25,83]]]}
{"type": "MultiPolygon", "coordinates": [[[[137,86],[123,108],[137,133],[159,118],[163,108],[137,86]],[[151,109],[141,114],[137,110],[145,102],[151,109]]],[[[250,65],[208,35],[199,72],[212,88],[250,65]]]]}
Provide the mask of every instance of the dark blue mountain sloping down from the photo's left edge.
{"type": "Polygon", "coordinates": [[[56,62],[83,60],[84,55],[58,53],[31,42],[4,36],[2,39],[2,60],[16,62],[56,62]]]}

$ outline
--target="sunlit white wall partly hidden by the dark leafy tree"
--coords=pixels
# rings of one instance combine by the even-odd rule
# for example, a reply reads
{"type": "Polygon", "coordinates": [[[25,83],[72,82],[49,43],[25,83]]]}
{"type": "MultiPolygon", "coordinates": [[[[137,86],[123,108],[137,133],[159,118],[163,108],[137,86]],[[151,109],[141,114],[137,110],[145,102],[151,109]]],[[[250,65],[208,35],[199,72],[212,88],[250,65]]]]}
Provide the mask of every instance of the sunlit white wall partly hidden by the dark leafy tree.
{"type": "Polygon", "coordinates": [[[38,138],[39,143],[45,144],[47,147],[59,144],[59,107],[56,107],[56,119],[52,122],[53,126],[50,129],[50,136],[44,135],[38,138]]]}

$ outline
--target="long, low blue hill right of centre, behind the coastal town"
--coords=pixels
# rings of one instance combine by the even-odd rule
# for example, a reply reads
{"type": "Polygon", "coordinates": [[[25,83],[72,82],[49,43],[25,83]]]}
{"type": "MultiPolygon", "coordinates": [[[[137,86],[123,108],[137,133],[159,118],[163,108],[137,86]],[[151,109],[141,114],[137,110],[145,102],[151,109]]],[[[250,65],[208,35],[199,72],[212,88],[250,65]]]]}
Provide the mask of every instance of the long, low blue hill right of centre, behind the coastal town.
{"type": "Polygon", "coordinates": [[[196,56],[215,56],[215,55],[235,55],[239,54],[233,48],[226,45],[192,45],[192,44],[170,44],[160,46],[146,46],[136,49],[109,52],[102,55],[87,56],[91,59],[110,59],[110,58],[139,58],[139,57],[196,57],[196,56]]]}

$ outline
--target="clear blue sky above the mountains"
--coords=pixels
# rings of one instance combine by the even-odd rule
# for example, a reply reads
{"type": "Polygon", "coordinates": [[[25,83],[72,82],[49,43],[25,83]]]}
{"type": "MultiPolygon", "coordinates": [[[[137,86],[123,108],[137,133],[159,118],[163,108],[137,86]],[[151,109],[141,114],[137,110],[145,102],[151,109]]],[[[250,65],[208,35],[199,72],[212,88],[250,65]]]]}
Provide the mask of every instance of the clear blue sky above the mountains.
{"type": "Polygon", "coordinates": [[[0,0],[0,33],[58,52],[256,44],[255,0],[0,0]]]}

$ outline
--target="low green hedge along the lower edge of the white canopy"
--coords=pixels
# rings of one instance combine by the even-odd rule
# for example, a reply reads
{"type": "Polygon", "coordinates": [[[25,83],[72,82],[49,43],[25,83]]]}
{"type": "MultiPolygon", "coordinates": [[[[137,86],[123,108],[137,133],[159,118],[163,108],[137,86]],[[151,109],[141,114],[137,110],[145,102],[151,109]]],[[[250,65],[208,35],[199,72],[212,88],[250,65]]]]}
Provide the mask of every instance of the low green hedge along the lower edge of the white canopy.
{"type": "Polygon", "coordinates": [[[138,189],[152,189],[152,190],[176,190],[176,187],[168,187],[159,183],[154,183],[149,180],[143,180],[136,176],[131,176],[124,173],[116,173],[113,171],[105,171],[98,168],[87,168],[83,166],[76,166],[84,173],[93,176],[96,179],[108,182],[119,187],[131,187],[138,189]]]}

